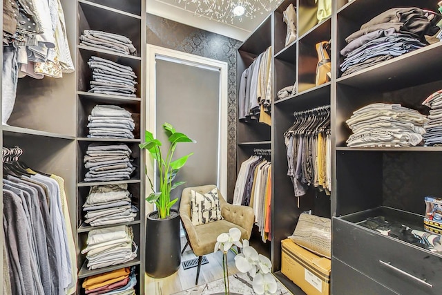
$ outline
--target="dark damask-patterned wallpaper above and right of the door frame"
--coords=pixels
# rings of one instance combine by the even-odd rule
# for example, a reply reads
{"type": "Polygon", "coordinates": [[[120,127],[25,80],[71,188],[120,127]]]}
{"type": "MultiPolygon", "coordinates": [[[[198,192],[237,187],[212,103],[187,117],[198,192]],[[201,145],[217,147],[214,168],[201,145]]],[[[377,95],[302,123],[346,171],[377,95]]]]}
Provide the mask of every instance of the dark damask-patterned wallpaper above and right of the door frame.
{"type": "MultiPolygon", "coordinates": [[[[233,196],[236,182],[236,50],[242,42],[147,14],[147,43],[227,62],[229,66],[227,195],[233,196]]],[[[229,198],[228,196],[224,198],[229,198]]]]}

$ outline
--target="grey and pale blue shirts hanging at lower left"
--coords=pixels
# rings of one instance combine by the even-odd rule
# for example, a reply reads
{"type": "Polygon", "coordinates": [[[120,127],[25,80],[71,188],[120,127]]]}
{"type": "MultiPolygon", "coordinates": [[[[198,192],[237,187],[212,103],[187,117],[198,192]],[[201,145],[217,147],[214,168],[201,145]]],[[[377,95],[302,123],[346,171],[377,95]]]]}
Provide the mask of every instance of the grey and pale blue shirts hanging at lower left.
{"type": "Polygon", "coordinates": [[[17,149],[3,148],[3,231],[9,236],[12,294],[73,294],[77,256],[64,180],[11,160],[10,150],[17,149]]]}

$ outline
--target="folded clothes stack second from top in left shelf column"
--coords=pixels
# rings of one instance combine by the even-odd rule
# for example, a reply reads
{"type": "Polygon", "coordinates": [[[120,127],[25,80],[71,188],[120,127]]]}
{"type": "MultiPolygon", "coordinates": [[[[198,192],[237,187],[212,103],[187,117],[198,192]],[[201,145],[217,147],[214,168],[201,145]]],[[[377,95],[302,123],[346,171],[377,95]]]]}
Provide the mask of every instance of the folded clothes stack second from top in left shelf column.
{"type": "Polygon", "coordinates": [[[88,65],[92,70],[89,92],[136,97],[137,75],[130,66],[95,56],[90,57],[88,65]]]}

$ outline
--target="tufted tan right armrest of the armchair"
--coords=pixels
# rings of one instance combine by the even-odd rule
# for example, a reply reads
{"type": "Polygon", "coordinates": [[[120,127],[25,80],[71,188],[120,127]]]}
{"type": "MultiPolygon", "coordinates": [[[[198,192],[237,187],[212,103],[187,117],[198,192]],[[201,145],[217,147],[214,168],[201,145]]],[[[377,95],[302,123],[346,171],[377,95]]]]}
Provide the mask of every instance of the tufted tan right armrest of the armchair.
{"type": "Polygon", "coordinates": [[[225,220],[245,229],[247,231],[247,239],[250,238],[251,228],[255,221],[255,213],[253,213],[251,207],[233,205],[225,202],[221,209],[221,215],[225,220]]]}

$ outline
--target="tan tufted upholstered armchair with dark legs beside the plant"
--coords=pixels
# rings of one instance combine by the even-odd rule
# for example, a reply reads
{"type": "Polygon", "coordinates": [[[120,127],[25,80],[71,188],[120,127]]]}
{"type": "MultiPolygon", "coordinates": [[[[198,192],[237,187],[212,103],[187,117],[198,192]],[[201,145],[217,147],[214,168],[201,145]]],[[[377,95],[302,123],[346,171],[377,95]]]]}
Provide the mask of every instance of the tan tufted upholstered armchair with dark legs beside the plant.
{"type": "Polygon", "coordinates": [[[195,256],[198,256],[198,270],[196,273],[195,285],[198,285],[202,256],[213,253],[216,238],[222,233],[229,232],[229,229],[232,227],[238,227],[241,231],[241,239],[249,240],[251,229],[253,227],[253,220],[255,219],[251,207],[229,204],[224,200],[218,190],[221,215],[224,219],[209,222],[205,225],[193,225],[191,221],[191,190],[198,191],[198,193],[204,195],[204,193],[211,191],[215,187],[216,186],[213,184],[201,187],[187,187],[182,191],[181,195],[180,216],[182,225],[186,230],[187,238],[187,244],[182,249],[182,253],[184,253],[184,249],[186,249],[187,245],[190,245],[195,256]]]}

